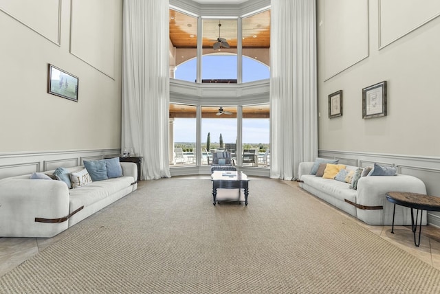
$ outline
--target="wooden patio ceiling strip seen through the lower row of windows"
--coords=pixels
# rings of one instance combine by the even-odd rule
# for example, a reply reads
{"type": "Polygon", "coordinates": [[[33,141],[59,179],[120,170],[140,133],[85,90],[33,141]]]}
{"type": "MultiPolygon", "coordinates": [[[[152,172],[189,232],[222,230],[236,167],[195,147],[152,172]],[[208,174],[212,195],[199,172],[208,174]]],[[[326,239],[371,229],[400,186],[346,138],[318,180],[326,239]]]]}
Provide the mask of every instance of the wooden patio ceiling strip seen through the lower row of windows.
{"type": "MultiPolygon", "coordinates": [[[[196,106],[185,104],[170,104],[170,118],[173,117],[196,117],[196,106]]],[[[235,106],[223,106],[223,111],[229,111],[231,115],[216,115],[219,106],[202,106],[201,117],[211,118],[234,118],[236,117],[235,106]]],[[[243,118],[269,118],[269,104],[243,106],[243,118]]]]}

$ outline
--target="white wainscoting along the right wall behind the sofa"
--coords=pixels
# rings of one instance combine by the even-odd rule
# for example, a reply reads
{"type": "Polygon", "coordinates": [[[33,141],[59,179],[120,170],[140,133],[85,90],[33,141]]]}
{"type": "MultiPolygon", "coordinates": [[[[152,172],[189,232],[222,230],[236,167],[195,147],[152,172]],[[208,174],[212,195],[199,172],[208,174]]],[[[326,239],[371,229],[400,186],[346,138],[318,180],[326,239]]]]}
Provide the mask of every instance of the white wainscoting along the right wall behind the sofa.
{"type": "MultiPolygon", "coordinates": [[[[417,177],[426,185],[426,192],[440,197],[440,158],[391,155],[338,150],[319,150],[319,157],[339,159],[341,163],[358,161],[358,166],[395,166],[399,174],[417,177]]],[[[440,212],[428,212],[428,223],[440,227],[440,212]]]]}

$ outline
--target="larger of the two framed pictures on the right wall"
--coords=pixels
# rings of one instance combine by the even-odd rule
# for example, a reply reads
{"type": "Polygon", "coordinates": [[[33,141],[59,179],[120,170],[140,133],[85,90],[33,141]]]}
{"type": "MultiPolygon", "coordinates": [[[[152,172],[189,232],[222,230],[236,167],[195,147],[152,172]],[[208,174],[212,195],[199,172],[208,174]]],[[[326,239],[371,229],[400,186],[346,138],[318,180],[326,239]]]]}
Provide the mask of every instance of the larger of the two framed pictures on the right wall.
{"type": "Polygon", "coordinates": [[[362,89],[362,118],[386,116],[386,80],[362,89]]]}

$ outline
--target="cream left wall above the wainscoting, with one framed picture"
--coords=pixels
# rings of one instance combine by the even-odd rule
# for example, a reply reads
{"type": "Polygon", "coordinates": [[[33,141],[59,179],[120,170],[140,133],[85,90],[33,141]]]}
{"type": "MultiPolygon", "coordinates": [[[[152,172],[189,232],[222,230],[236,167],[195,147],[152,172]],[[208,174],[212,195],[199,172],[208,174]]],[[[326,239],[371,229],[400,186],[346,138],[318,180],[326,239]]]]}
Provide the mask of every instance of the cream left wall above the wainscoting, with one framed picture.
{"type": "Polygon", "coordinates": [[[92,2],[0,0],[0,155],[120,148],[122,0],[92,2]],[[47,93],[48,63],[78,102],[47,93]]]}

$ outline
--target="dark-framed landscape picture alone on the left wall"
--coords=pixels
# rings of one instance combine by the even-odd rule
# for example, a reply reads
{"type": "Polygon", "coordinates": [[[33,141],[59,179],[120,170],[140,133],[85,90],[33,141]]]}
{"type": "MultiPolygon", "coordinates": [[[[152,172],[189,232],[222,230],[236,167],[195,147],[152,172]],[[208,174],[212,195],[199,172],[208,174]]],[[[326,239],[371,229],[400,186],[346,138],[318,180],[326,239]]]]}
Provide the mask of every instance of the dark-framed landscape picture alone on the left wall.
{"type": "Polygon", "coordinates": [[[49,64],[47,93],[78,102],[78,78],[49,64]]]}

